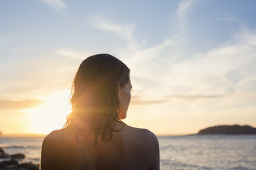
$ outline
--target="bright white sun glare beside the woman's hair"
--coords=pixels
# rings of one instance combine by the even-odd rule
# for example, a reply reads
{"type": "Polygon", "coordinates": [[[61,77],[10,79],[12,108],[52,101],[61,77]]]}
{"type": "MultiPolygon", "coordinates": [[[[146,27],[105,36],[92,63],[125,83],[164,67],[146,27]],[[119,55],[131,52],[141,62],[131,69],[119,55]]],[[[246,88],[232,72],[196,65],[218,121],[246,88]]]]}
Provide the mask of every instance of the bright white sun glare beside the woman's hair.
{"type": "Polygon", "coordinates": [[[70,90],[56,91],[38,108],[23,110],[30,117],[30,133],[49,134],[52,130],[61,129],[71,112],[68,97],[70,90]]]}

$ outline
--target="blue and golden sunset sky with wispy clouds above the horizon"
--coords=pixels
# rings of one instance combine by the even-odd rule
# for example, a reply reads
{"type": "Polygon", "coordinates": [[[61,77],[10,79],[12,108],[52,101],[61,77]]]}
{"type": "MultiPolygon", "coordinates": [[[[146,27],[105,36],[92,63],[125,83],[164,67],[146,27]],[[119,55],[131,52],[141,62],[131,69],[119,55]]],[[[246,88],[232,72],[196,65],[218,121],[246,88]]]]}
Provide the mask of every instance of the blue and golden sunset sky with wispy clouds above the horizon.
{"type": "Polygon", "coordinates": [[[256,1],[0,1],[0,130],[48,134],[85,58],[131,69],[127,125],[256,127],[256,1]]]}

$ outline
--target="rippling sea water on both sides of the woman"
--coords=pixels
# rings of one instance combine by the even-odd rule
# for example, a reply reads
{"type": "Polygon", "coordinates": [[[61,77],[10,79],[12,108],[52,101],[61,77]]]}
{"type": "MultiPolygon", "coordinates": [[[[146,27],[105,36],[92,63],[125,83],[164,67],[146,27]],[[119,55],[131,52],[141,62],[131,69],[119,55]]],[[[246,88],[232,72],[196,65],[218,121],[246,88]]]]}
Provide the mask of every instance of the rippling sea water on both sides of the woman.
{"type": "MultiPolygon", "coordinates": [[[[256,135],[158,136],[160,169],[255,169],[256,135]]],[[[43,137],[1,137],[8,154],[25,154],[22,162],[40,162],[43,137]]],[[[1,161],[1,159],[0,159],[1,161]]]]}

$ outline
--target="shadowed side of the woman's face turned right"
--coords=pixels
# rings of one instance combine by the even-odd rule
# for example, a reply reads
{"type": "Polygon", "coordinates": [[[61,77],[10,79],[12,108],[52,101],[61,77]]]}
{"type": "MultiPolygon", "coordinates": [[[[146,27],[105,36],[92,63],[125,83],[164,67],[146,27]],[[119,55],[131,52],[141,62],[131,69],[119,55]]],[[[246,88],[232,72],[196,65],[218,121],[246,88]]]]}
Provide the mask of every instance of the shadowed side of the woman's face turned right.
{"type": "Polygon", "coordinates": [[[120,119],[126,118],[127,110],[131,101],[131,88],[132,86],[130,80],[127,84],[125,84],[124,87],[119,88],[118,99],[120,101],[120,104],[118,116],[120,119]]]}

